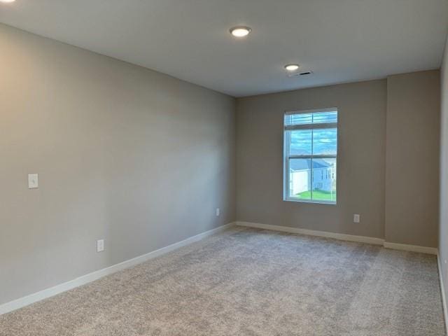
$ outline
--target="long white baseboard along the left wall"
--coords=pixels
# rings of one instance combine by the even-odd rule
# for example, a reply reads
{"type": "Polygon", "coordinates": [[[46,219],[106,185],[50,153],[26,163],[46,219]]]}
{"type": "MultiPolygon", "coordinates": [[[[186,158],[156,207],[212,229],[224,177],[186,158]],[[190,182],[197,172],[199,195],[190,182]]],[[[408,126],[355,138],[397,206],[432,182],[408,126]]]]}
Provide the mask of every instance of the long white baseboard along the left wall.
{"type": "Polygon", "coordinates": [[[44,300],[48,297],[52,297],[54,295],[57,295],[59,293],[65,292],[66,290],[70,290],[79,286],[84,285],[85,283],[89,283],[92,281],[95,281],[99,278],[102,278],[103,276],[113,274],[115,272],[121,271],[122,269],[126,269],[129,267],[132,267],[134,265],[138,265],[141,262],[145,262],[147,260],[150,260],[152,258],[158,257],[160,255],[163,255],[165,253],[171,252],[176,250],[177,248],[181,248],[183,246],[187,246],[189,244],[194,243],[195,241],[200,241],[201,239],[204,239],[206,237],[209,237],[211,235],[214,235],[218,232],[222,232],[228,228],[230,228],[234,223],[229,223],[226,225],[222,225],[219,228],[209,230],[206,232],[202,232],[199,235],[195,235],[193,237],[184,239],[182,241],[179,241],[177,243],[174,243],[169,246],[165,246],[162,248],[159,248],[158,250],[152,251],[150,253],[146,253],[144,255],[140,255],[139,257],[132,258],[130,260],[126,260],[123,262],[120,262],[116,265],[112,265],[110,267],[106,267],[104,269],[99,269],[98,271],[92,272],[90,274],[86,274],[83,276],[80,276],[76,279],[67,281],[65,283],[61,283],[57,286],[47,288],[44,290],[41,290],[40,292],[33,293],[31,295],[27,295],[25,297],[20,297],[17,300],[13,300],[10,302],[6,302],[4,304],[0,304],[0,315],[6,314],[10,311],[25,307],[31,303],[38,302],[41,300],[44,300]]]}

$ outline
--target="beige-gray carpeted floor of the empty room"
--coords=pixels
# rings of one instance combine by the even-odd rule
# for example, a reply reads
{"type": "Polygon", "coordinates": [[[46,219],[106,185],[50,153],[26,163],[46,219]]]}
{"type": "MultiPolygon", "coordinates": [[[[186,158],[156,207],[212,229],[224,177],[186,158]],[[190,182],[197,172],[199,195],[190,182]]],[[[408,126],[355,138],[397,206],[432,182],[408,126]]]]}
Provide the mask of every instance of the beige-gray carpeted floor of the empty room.
{"type": "Polygon", "coordinates": [[[1,336],[444,335],[433,255],[232,228],[0,316],[1,336]]]}

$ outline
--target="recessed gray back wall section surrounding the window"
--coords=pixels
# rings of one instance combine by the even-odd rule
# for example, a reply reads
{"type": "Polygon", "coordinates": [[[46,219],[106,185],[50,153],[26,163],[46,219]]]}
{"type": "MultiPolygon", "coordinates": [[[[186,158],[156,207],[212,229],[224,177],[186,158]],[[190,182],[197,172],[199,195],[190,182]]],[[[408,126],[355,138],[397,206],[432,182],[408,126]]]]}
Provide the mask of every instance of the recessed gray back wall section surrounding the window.
{"type": "Polygon", "coordinates": [[[237,221],[384,237],[386,80],[237,99],[237,221]],[[283,201],[283,113],[337,107],[337,205],[283,201]],[[353,214],[361,223],[353,223],[353,214]]]}

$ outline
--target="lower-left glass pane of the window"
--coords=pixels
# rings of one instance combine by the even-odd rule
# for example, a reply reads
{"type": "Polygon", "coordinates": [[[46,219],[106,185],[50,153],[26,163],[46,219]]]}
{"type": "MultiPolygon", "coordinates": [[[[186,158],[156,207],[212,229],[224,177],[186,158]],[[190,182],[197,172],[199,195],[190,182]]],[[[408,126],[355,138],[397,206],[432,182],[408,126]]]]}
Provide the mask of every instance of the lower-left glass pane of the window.
{"type": "Polygon", "coordinates": [[[311,159],[289,160],[289,197],[311,200],[311,159]]]}

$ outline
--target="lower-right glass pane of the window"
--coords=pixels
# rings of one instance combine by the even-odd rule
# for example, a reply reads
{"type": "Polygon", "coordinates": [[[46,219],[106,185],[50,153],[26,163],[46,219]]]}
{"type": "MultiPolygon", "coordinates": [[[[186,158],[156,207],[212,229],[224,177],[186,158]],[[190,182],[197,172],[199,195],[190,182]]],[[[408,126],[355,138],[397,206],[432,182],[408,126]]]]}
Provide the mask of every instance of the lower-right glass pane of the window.
{"type": "Polygon", "coordinates": [[[336,202],[336,159],[313,159],[312,200],[336,202]]]}

